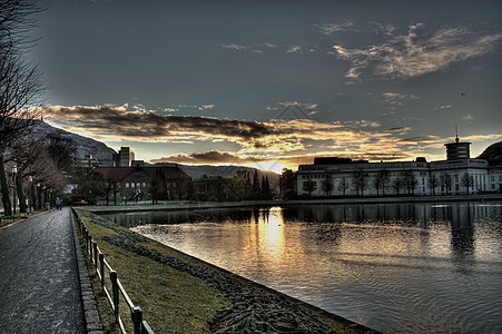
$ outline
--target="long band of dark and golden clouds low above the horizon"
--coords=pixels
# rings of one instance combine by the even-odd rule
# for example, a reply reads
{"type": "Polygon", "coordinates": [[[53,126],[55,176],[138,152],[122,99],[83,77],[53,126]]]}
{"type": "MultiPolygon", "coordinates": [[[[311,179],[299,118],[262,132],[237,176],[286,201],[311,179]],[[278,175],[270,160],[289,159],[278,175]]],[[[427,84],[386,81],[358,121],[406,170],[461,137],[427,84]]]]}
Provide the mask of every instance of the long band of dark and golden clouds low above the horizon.
{"type": "MultiPolygon", "coordinates": [[[[282,102],[286,108],[299,102],[282,102]]],[[[302,104],[315,111],[315,104],[302,104]]],[[[314,156],[354,159],[398,160],[426,156],[425,149],[441,149],[447,138],[413,134],[410,127],[383,128],[371,119],[318,122],[308,118],[280,118],[268,122],[218,119],[203,116],[165,116],[127,105],[51,106],[46,120],[95,139],[176,144],[232,144],[234,151],[178,154],[161,158],[183,164],[282,164],[307,161],[314,156]],[[287,163],[289,161],[289,163],[287,163]]],[[[502,135],[471,136],[465,140],[499,139],[502,135]]],[[[228,148],[227,148],[228,149],[228,148]]],[[[160,159],[157,159],[160,160],[160,159]]],[[[275,165],[278,166],[278,165],[275,165]]]]}

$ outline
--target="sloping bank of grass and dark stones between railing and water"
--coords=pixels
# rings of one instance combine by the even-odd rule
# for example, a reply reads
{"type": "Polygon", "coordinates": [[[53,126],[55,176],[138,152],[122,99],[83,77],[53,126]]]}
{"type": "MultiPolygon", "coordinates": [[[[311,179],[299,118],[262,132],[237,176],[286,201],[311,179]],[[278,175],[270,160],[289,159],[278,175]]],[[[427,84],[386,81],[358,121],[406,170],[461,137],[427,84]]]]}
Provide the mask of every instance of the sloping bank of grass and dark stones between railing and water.
{"type": "MultiPolygon", "coordinates": [[[[374,333],[89,212],[78,214],[156,333],[374,333]]],[[[115,333],[105,295],[95,294],[104,326],[115,333]]]]}

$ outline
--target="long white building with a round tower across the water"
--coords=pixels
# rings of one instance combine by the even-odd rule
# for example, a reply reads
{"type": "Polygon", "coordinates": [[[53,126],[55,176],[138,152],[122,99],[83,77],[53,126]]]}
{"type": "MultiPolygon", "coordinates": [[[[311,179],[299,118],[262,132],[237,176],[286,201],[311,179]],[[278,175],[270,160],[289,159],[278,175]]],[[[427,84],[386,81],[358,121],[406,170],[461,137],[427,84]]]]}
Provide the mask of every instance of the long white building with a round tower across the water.
{"type": "MultiPolygon", "coordinates": [[[[502,167],[470,158],[471,143],[446,144],[446,160],[368,163],[322,157],[296,171],[296,195],[382,196],[502,193],[502,167]]],[[[283,178],[285,175],[283,174],[283,178]]]]}

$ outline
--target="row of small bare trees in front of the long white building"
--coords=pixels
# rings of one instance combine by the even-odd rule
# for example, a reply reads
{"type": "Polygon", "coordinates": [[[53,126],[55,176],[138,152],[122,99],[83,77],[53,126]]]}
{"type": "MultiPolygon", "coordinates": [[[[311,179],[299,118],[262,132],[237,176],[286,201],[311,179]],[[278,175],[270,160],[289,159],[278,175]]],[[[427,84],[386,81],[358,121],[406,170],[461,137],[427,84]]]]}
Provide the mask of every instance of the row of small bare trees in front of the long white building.
{"type": "MultiPolygon", "coordinates": [[[[470,189],[474,186],[474,178],[469,173],[465,173],[461,180],[461,185],[466,188],[467,195],[470,189]]],[[[451,194],[453,186],[453,177],[450,174],[442,174],[440,177],[436,175],[431,175],[427,178],[427,187],[432,190],[432,195],[435,195],[435,190],[437,187],[441,187],[445,190],[446,195],[451,194]]],[[[376,196],[385,196],[387,195],[388,189],[394,190],[394,195],[414,195],[415,189],[419,185],[419,180],[416,179],[413,171],[405,171],[401,176],[391,177],[387,170],[380,171],[376,176],[370,177],[367,173],[356,171],[353,177],[346,178],[343,177],[338,184],[337,190],[343,194],[343,196],[347,195],[347,191],[351,189],[351,185],[357,196],[364,196],[364,191],[367,190],[371,186],[376,190],[376,196]],[[350,179],[352,181],[350,181],[350,179]]],[[[303,185],[303,190],[308,193],[308,196],[312,196],[312,193],[316,190],[317,184],[308,179],[303,185]]],[[[334,190],[334,181],[332,175],[327,174],[326,178],[321,183],[321,190],[327,196],[331,197],[334,190]]]]}

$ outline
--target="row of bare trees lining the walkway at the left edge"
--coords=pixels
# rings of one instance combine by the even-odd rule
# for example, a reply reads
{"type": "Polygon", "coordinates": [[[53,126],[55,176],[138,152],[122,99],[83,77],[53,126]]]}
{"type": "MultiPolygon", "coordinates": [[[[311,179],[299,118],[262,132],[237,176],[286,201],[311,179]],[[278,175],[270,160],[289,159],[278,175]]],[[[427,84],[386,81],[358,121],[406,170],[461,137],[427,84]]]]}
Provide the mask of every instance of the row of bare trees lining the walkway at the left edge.
{"type": "Polygon", "coordinates": [[[40,11],[35,0],[0,0],[0,191],[4,215],[12,215],[11,204],[17,202],[11,189],[20,210],[26,212],[27,202],[41,206],[65,184],[51,143],[27,137],[39,118],[45,90],[38,67],[24,56],[36,43],[29,33],[40,11]]]}

